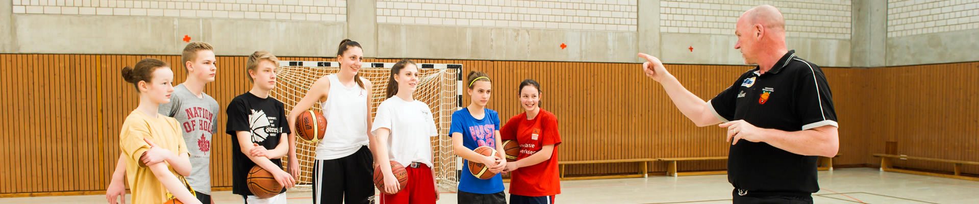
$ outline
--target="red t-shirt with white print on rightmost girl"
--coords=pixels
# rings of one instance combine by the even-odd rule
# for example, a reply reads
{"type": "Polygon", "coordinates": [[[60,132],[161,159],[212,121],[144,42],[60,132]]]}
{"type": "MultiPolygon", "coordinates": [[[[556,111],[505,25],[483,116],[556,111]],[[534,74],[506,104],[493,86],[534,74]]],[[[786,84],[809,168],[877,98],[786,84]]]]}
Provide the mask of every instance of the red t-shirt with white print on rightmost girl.
{"type": "Polygon", "coordinates": [[[510,173],[510,194],[523,196],[549,196],[561,194],[561,178],[557,169],[557,146],[561,144],[561,134],[557,130],[557,117],[540,109],[532,120],[527,113],[521,113],[500,128],[501,139],[516,139],[520,144],[517,160],[530,157],[544,145],[553,144],[551,158],[534,166],[523,167],[510,173]]]}

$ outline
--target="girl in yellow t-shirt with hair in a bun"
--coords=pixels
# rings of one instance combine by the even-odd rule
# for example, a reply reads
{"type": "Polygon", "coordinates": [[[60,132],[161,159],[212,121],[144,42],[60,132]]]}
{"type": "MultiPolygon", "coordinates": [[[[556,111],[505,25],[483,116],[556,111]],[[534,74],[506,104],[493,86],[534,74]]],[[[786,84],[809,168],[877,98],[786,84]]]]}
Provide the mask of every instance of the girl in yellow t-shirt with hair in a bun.
{"type": "Polygon", "coordinates": [[[175,119],[157,114],[160,104],[170,101],[173,72],[163,61],[148,58],[135,68],[122,69],[122,77],[139,92],[139,106],[126,117],[119,133],[119,149],[125,157],[119,161],[125,163],[132,203],[163,203],[172,198],[201,203],[180,179],[191,171],[180,127],[175,119]]]}

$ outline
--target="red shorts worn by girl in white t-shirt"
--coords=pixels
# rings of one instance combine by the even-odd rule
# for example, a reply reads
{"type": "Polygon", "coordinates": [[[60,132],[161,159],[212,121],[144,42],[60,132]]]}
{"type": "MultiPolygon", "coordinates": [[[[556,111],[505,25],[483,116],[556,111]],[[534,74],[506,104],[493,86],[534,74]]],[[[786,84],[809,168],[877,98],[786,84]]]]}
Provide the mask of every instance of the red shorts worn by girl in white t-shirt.
{"type": "Polygon", "coordinates": [[[394,195],[381,193],[381,204],[435,204],[435,180],[432,168],[419,164],[418,168],[404,168],[408,172],[408,183],[394,195]]]}

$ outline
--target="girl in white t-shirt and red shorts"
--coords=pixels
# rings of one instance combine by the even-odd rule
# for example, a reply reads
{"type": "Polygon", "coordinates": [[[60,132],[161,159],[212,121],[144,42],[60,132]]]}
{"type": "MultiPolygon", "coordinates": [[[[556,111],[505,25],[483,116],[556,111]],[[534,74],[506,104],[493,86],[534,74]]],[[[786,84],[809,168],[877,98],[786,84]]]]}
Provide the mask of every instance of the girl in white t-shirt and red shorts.
{"type": "Polygon", "coordinates": [[[438,136],[432,109],[428,104],[414,99],[418,87],[418,66],[410,60],[401,60],[391,68],[388,79],[388,99],[377,108],[371,131],[377,136],[378,164],[384,175],[385,192],[381,204],[412,203],[434,204],[439,190],[432,169],[432,144],[438,136]],[[408,181],[399,189],[397,178],[392,174],[390,161],[404,166],[408,181]]]}

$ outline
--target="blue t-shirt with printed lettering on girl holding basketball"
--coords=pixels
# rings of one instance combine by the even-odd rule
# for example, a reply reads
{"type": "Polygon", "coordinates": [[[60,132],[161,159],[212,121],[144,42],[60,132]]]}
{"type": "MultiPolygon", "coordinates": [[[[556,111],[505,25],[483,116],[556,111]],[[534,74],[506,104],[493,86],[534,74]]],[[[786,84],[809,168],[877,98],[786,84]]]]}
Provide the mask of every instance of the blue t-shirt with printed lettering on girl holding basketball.
{"type": "MultiPolygon", "coordinates": [[[[449,135],[462,133],[462,145],[470,150],[480,146],[496,149],[496,137],[493,134],[499,130],[499,115],[496,111],[486,110],[483,119],[477,120],[469,114],[468,108],[452,113],[452,126],[449,135]]],[[[459,191],[479,194],[490,194],[503,191],[503,178],[498,174],[489,179],[480,179],[469,173],[469,161],[462,162],[462,176],[459,177],[459,191]]]]}

